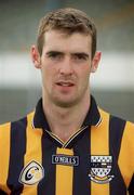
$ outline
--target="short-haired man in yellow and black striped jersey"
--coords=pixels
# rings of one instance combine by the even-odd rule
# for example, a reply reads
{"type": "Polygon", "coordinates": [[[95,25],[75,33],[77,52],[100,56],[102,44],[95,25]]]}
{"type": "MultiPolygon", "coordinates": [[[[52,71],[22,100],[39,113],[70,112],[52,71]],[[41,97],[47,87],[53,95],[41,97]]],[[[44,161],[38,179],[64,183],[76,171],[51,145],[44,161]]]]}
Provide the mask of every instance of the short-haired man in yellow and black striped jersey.
{"type": "Polygon", "coordinates": [[[42,99],[25,118],[0,126],[1,194],[125,195],[134,191],[134,125],[97,107],[96,28],[62,9],[39,26],[32,62],[42,99]]]}

